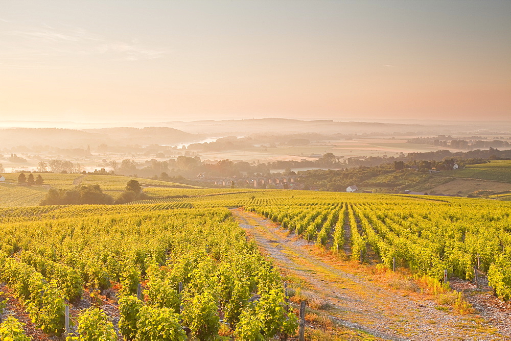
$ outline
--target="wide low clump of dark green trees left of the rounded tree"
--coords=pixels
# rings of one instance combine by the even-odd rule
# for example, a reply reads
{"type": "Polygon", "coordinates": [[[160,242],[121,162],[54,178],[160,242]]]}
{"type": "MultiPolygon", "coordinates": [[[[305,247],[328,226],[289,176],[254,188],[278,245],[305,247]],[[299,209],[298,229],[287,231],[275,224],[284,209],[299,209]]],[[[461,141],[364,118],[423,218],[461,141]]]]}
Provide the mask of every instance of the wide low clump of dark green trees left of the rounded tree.
{"type": "Polygon", "coordinates": [[[82,185],[73,189],[51,188],[39,205],[113,204],[113,198],[103,193],[99,185],[82,185]]]}

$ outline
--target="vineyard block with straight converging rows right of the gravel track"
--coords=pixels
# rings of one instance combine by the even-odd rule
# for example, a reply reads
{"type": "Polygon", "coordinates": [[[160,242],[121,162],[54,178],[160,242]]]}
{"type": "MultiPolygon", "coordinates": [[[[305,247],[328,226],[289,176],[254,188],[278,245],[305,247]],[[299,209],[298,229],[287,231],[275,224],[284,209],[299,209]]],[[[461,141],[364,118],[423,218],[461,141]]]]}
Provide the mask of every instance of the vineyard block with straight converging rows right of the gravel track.
{"type": "Polygon", "coordinates": [[[511,299],[509,205],[470,199],[354,198],[343,202],[314,198],[309,203],[297,200],[246,209],[335,251],[342,249],[343,225],[349,224],[353,258],[363,259],[370,246],[387,267],[395,260],[439,280],[445,270],[472,279],[479,261],[497,295],[511,299]]]}

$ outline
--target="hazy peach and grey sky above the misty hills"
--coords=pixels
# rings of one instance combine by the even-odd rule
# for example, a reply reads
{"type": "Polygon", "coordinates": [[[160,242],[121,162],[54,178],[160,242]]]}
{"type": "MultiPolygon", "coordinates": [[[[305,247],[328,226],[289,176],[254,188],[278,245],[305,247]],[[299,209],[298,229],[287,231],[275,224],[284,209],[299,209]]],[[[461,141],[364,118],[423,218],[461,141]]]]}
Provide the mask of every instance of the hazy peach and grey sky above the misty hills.
{"type": "Polygon", "coordinates": [[[0,1],[7,120],[511,119],[511,1],[0,1]]]}

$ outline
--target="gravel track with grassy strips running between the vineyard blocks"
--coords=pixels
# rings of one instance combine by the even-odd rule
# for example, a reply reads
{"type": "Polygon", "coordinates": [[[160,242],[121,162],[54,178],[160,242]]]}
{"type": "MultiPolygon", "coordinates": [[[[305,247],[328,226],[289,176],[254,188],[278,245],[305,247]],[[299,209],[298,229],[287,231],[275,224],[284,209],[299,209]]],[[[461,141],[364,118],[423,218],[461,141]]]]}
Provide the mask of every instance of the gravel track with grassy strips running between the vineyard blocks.
{"type": "Polygon", "coordinates": [[[330,314],[345,326],[385,339],[503,339],[493,326],[474,315],[435,309],[420,294],[403,296],[347,273],[315,256],[313,243],[243,209],[232,209],[240,227],[275,263],[305,279],[332,305],[330,314]]]}

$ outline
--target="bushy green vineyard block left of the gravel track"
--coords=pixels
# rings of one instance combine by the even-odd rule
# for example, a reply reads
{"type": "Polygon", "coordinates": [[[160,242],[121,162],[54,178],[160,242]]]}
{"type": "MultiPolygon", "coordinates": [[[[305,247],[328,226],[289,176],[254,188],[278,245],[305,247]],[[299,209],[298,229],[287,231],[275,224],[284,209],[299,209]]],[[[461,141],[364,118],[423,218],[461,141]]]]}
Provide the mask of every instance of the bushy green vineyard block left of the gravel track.
{"type": "Polygon", "coordinates": [[[80,339],[117,339],[115,329],[140,340],[210,339],[221,329],[262,339],[297,326],[280,275],[226,209],[64,216],[5,224],[0,237],[0,281],[50,335],[65,332],[66,302],[84,287],[120,288],[120,320],[114,327],[100,309],[84,309],[72,329],[80,339]]]}

